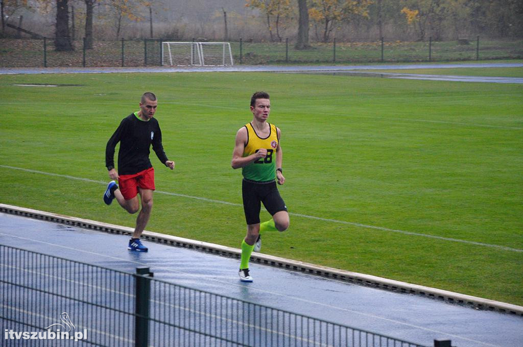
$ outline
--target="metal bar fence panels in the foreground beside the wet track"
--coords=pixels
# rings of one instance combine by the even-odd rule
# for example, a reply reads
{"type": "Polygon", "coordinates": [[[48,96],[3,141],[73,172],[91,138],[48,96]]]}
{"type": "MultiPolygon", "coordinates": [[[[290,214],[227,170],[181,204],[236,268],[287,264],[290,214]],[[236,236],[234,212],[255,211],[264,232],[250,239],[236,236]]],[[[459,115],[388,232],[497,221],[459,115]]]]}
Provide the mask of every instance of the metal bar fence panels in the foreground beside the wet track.
{"type": "MultiPolygon", "coordinates": [[[[233,297],[0,245],[2,345],[422,345],[233,297]],[[33,338],[34,337],[34,338],[33,338]]],[[[447,341],[435,341],[445,346],[447,341]]],[[[450,346],[450,341],[448,341],[450,346]]]]}

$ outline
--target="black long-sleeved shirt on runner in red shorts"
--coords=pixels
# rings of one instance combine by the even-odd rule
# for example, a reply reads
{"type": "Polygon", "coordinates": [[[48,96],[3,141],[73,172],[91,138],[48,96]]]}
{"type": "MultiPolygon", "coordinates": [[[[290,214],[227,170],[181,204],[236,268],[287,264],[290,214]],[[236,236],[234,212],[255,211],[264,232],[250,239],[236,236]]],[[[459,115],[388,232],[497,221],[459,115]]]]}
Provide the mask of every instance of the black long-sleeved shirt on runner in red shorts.
{"type": "Polygon", "coordinates": [[[162,164],[165,165],[168,160],[162,145],[162,131],[155,118],[142,121],[137,115],[131,113],[120,122],[105,148],[105,166],[108,169],[115,166],[114,156],[118,142],[120,142],[119,175],[133,175],[152,167],[151,160],[149,160],[151,144],[162,164]]]}

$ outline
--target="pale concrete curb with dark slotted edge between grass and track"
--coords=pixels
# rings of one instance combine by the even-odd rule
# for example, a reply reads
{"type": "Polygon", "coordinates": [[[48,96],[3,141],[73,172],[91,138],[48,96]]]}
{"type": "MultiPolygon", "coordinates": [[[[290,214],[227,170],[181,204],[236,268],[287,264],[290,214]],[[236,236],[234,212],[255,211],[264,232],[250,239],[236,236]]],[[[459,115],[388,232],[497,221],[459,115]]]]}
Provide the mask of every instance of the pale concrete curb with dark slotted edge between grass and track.
{"type": "MultiPolygon", "coordinates": [[[[0,204],[0,212],[42,219],[44,221],[67,224],[76,227],[94,229],[112,234],[131,235],[133,232],[133,228],[129,227],[91,221],[89,219],[64,216],[50,212],[26,209],[25,207],[18,207],[13,205],[0,204]]],[[[237,248],[226,247],[211,244],[209,242],[192,240],[160,233],[144,231],[142,234],[142,238],[154,242],[159,242],[162,244],[206,251],[209,253],[214,253],[226,257],[240,258],[241,255],[241,250],[237,248]]],[[[306,263],[302,261],[265,255],[263,253],[254,252],[251,256],[251,261],[255,261],[260,264],[267,264],[275,267],[285,268],[289,270],[315,274],[323,277],[329,277],[336,280],[383,288],[386,290],[423,295],[430,298],[445,300],[450,303],[470,305],[477,309],[496,310],[504,313],[523,316],[523,306],[517,306],[476,296],[444,291],[437,288],[426,287],[423,285],[389,280],[383,277],[367,275],[357,272],[328,268],[321,265],[306,263]]]]}

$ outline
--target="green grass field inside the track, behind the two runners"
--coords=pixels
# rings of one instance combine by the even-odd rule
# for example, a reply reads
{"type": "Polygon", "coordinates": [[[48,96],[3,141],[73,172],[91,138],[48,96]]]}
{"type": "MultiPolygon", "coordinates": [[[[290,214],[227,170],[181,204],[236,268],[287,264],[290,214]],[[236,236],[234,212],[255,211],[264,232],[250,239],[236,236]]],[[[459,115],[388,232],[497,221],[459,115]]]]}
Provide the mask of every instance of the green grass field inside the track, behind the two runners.
{"type": "Polygon", "coordinates": [[[2,75],[0,88],[2,203],[132,227],[135,215],[103,203],[105,184],[59,175],[107,182],[107,140],[151,90],[176,169],[151,154],[147,230],[238,248],[241,172],[230,160],[263,89],[291,212],[263,252],[523,305],[522,85],[142,73],[2,75]],[[35,83],[81,86],[14,86],[35,83]]]}

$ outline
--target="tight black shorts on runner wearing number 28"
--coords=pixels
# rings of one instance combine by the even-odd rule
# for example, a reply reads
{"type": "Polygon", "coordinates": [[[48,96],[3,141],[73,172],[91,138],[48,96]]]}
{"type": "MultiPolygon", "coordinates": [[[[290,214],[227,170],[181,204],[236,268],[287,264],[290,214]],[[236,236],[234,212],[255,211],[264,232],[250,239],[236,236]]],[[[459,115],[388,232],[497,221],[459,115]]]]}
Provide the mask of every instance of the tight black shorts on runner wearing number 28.
{"type": "Polygon", "coordinates": [[[242,196],[247,224],[260,222],[260,202],[263,202],[271,216],[280,211],[287,211],[287,206],[276,187],[276,181],[255,182],[243,179],[242,196]]]}

